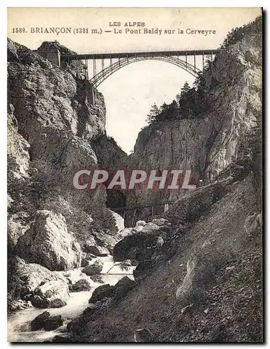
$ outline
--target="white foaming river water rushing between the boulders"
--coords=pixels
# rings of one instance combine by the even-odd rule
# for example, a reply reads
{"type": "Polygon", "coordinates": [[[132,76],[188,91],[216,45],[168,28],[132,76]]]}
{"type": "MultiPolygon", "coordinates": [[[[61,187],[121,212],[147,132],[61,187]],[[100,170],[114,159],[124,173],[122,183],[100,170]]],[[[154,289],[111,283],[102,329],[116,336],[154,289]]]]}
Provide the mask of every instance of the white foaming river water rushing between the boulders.
{"type": "MultiPolygon", "coordinates": [[[[114,214],[115,212],[112,211],[114,214]]],[[[119,214],[114,215],[119,230],[123,229],[123,218],[119,214]]],[[[93,263],[97,258],[91,260],[93,263]]],[[[91,290],[87,292],[70,292],[70,299],[66,306],[61,308],[49,308],[49,309],[37,309],[29,308],[20,311],[15,311],[8,315],[8,341],[10,342],[40,342],[52,339],[57,334],[65,332],[66,325],[73,318],[77,318],[78,315],[84,311],[84,309],[89,306],[89,299],[93,293],[93,290],[104,283],[110,283],[110,285],[115,285],[123,276],[128,274],[130,279],[133,279],[133,269],[135,267],[128,267],[127,270],[121,269],[118,263],[114,262],[112,255],[107,257],[98,257],[103,262],[103,270],[100,277],[103,283],[96,283],[90,276],[82,274],[82,268],[68,270],[66,272],[59,272],[59,274],[70,274],[68,278],[75,283],[80,279],[87,279],[91,284],[91,290]],[[55,329],[54,331],[31,331],[31,321],[40,315],[44,311],[49,311],[51,316],[61,315],[63,318],[63,326],[55,329]]]]}

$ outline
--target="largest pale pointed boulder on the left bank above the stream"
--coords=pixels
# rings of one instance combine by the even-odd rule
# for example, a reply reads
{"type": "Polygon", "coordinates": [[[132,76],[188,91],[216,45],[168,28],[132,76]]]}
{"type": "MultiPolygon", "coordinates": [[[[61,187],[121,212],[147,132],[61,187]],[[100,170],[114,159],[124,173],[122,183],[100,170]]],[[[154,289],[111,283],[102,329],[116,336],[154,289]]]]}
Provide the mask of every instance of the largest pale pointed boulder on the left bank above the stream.
{"type": "Polygon", "coordinates": [[[17,240],[16,253],[27,262],[50,270],[80,267],[80,244],[68,232],[66,218],[40,210],[27,232],[17,240]]]}

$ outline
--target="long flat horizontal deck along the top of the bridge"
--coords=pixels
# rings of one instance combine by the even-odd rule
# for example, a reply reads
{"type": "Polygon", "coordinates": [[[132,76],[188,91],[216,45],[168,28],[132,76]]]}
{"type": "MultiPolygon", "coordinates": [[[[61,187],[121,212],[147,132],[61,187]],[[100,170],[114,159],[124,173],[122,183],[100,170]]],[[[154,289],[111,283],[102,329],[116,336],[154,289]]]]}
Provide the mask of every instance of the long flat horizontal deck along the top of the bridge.
{"type": "Polygon", "coordinates": [[[174,51],[146,51],[146,52],[119,52],[119,53],[86,53],[86,54],[63,54],[61,59],[113,59],[126,57],[147,57],[147,56],[194,56],[217,54],[226,50],[174,50],[174,51]]]}

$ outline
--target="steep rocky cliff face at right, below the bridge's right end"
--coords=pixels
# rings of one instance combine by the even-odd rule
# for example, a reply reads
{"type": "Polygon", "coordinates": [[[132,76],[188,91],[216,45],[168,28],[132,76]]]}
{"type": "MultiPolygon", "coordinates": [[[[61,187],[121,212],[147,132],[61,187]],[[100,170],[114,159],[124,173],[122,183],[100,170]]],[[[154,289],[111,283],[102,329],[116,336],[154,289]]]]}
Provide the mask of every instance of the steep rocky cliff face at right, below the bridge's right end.
{"type": "MultiPolygon", "coordinates": [[[[260,34],[248,36],[221,52],[206,72],[207,112],[198,117],[160,121],[144,128],[129,157],[131,168],[191,170],[195,183],[216,180],[231,165],[247,160],[250,138],[262,110],[262,46],[260,34]]],[[[205,110],[205,108],[203,108],[205,110]]],[[[177,193],[128,193],[130,207],[176,200],[177,193]]],[[[156,211],[162,213],[164,207],[156,211]]],[[[144,212],[145,214],[145,212],[144,212]]],[[[151,214],[149,211],[148,214],[151,214]]],[[[126,216],[126,223],[142,219],[126,216]]]]}

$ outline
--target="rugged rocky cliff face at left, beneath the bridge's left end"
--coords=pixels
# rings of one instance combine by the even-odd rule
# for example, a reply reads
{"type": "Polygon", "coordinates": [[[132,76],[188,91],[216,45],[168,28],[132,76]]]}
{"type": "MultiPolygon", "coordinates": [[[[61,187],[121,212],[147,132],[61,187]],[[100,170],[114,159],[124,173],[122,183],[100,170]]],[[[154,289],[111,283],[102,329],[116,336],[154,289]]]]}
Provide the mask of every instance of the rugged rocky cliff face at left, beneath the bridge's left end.
{"type": "MultiPolygon", "coordinates": [[[[50,45],[68,52],[58,43],[38,50],[50,45]]],[[[52,271],[80,266],[88,239],[117,242],[105,188],[73,187],[77,170],[100,167],[91,140],[105,135],[104,98],[85,80],[82,62],[63,65],[8,40],[8,247],[11,258],[52,271]]]]}

